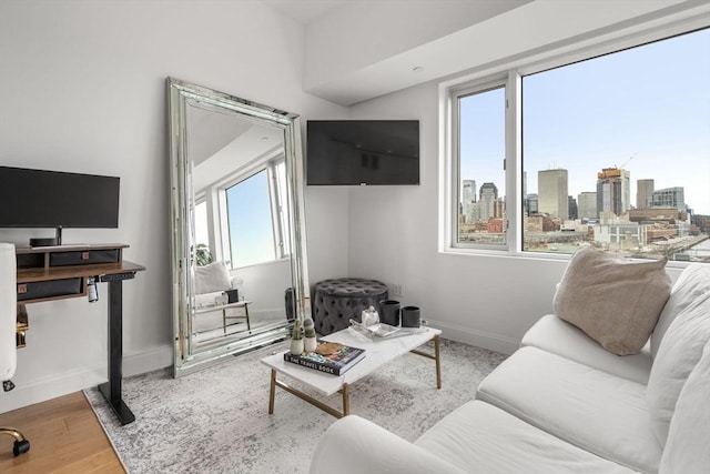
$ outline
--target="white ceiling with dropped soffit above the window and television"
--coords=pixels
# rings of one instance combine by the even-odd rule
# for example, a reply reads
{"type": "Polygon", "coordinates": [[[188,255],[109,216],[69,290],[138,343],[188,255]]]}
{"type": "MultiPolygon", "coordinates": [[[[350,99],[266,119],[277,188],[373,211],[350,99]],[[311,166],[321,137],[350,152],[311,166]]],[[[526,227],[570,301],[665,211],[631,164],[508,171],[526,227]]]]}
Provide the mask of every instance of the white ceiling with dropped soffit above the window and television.
{"type": "Polygon", "coordinates": [[[697,0],[261,1],[304,28],[303,89],[341,105],[710,14],[697,0]]]}

